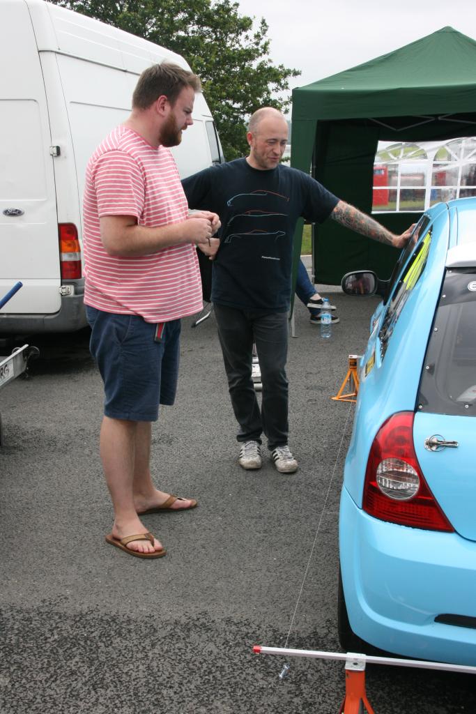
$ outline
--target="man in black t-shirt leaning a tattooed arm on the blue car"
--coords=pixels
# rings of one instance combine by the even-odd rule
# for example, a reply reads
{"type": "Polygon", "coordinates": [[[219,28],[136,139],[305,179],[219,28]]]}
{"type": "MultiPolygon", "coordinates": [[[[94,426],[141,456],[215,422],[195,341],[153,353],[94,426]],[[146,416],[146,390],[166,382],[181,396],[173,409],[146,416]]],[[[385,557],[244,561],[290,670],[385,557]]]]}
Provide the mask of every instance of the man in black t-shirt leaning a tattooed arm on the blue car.
{"type": "Polygon", "coordinates": [[[410,230],[395,236],[303,171],[280,164],[288,141],[288,123],[280,111],[258,109],[246,136],[246,159],[213,166],[182,183],[190,208],[206,208],[221,218],[211,300],[240,426],[238,463],[260,468],[265,433],[275,468],[293,473],[298,462],[288,446],[285,364],[296,221],[303,217],[322,223],[330,216],[396,247],[405,245],[410,230]],[[263,383],[261,408],[251,378],[253,342],[263,383]]]}

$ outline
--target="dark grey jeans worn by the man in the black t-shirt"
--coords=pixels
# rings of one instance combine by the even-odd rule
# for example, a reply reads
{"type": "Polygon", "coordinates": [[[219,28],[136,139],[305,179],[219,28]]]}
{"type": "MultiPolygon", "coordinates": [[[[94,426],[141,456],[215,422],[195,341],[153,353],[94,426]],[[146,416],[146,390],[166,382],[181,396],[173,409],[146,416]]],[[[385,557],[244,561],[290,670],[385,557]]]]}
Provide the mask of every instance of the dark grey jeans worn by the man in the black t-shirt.
{"type": "Polygon", "coordinates": [[[228,389],[240,425],[237,439],[259,441],[268,438],[270,451],[288,443],[288,313],[261,314],[261,311],[213,306],[218,324],[228,389]],[[261,370],[261,409],[251,378],[253,342],[261,370]]]}

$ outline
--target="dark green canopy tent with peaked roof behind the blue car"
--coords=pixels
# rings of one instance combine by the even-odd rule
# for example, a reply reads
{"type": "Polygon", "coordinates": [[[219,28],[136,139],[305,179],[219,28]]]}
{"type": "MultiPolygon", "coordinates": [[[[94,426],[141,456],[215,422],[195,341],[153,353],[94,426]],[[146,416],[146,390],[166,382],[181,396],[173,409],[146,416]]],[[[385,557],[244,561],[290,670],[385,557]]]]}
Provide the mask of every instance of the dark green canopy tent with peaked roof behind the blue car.
{"type": "MultiPolygon", "coordinates": [[[[372,211],[378,141],[437,141],[476,135],[476,41],[452,27],[293,90],[291,166],[343,201],[372,211]]],[[[419,214],[378,213],[402,233],[419,214]]],[[[303,223],[294,243],[294,271],[303,223]]],[[[390,275],[395,248],[356,236],[335,221],[313,230],[315,281],[338,285],[369,268],[390,275]]],[[[294,272],[295,275],[295,272],[294,272]]]]}

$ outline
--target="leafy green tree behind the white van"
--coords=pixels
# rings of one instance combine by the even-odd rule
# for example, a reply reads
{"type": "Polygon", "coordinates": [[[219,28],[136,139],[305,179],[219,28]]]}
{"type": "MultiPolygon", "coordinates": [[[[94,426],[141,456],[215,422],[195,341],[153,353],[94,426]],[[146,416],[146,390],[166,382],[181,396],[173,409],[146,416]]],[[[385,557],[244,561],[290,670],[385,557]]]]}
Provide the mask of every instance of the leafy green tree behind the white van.
{"type": "Polygon", "coordinates": [[[50,0],[185,57],[201,77],[226,159],[248,149],[245,120],[260,106],[285,111],[289,79],[300,74],[269,57],[268,25],[232,0],[50,0]]]}

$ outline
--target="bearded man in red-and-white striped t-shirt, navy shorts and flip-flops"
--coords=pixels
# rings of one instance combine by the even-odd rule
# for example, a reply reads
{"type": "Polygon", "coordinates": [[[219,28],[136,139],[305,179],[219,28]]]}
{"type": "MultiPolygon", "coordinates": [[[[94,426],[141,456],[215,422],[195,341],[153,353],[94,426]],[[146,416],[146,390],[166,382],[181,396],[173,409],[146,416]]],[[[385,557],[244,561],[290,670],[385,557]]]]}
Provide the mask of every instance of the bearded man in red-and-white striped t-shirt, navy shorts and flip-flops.
{"type": "Polygon", "coordinates": [[[180,320],[202,308],[196,246],[213,257],[216,213],[188,215],[168,150],[193,123],[200,80],[162,63],[141,74],[129,118],[88,162],[84,191],[86,313],[103,378],[101,460],[114,508],[106,540],[140,558],[166,551],[140,516],[193,499],[153,485],[151,422],[176,393],[180,320]]]}

